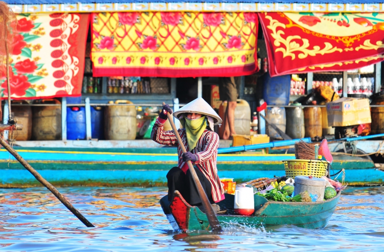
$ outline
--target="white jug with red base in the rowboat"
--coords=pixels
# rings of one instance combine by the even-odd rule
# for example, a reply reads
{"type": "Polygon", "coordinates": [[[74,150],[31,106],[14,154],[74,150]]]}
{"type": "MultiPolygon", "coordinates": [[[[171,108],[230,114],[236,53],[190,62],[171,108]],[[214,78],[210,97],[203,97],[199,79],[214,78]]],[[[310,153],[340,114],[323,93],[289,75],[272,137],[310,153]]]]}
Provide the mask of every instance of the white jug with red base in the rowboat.
{"type": "Polygon", "coordinates": [[[234,193],[234,212],[239,215],[251,215],[254,211],[253,188],[239,184],[234,193]]]}

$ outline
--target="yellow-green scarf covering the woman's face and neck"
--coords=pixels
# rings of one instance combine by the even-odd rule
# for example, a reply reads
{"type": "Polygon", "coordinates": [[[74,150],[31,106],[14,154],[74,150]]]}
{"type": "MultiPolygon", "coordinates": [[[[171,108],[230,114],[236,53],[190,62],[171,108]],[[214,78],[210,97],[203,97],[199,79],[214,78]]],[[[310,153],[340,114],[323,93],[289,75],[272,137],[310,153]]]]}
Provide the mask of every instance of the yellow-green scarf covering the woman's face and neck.
{"type": "Polygon", "coordinates": [[[186,132],[186,141],[188,142],[189,151],[195,149],[198,140],[207,128],[207,120],[205,116],[190,120],[186,117],[180,119],[181,125],[186,132]]]}

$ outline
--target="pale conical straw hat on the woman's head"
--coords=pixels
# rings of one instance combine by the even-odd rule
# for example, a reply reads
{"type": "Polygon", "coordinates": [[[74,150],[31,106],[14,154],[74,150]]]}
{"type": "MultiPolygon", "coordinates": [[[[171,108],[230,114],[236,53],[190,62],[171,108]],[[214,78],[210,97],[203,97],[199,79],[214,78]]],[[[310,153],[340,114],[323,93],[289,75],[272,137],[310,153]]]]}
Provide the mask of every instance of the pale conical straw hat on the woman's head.
{"type": "Polygon", "coordinates": [[[215,125],[221,124],[221,122],[223,121],[220,116],[215,112],[215,110],[213,110],[213,108],[203,98],[197,98],[189,102],[176,112],[173,112],[173,116],[177,119],[180,119],[180,116],[183,113],[199,113],[211,116],[215,125]]]}

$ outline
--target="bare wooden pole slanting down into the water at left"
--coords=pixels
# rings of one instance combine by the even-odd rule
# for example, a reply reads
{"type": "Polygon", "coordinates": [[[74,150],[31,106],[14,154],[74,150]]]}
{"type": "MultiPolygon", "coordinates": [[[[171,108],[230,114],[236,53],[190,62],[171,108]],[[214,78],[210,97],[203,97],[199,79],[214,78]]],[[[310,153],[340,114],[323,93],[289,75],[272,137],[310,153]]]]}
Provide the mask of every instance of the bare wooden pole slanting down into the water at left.
{"type": "Polygon", "coordinates": [[[68,208],[69,211],[71,211],[82,223],[84,223],[85,226],[94,227],[92,223],[90,223],[79,211],[77,211],[77,209],[74,208],[72,204],[69,203],[69,201],[67,201],[67,199],[65,199],[64,196],[59,193],[59,191],[57,191],[55,186],[53,186],[50,182],[46,181],[35,169],[32,168],[32,166],[27,163],[27,161],[24,160],[24,158],[19,155],[19,153],[17,153],[9,144],[7,144],[4,139],[0,138],[0,144],[9,153],[11,153],[12,156],[14,156],[17,161],[19,161],[25,167],[25,169],[32,173],[32,175],[42,185],[44,185],[48,190],[50,190],[56,196],[56,198],[58,198],[58,200],[61,201],[61,203],[63,203],[66,208],[68,208]]]}

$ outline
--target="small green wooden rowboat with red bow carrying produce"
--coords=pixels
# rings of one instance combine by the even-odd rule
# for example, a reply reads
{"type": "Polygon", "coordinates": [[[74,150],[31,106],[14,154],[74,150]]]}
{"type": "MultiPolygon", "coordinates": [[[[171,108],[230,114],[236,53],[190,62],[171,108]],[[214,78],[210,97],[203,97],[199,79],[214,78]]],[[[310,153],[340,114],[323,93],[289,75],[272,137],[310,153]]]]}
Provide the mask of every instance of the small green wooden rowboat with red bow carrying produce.
{"type": "MultiPolygon", "coordinates": [[[[225,194],[225,200],[218,203],[224,214],[217,218],[225,229],[233,224],[249,227],[295,225],[303,228],[324,228],[331,218],[341,193],[330,200],[319,202],[274,202],[261,196],[255,198],[255,213],[251,216],[234,215],[234,196],[225,194]]],[[[210,230],[207,216],[199,208],[190,206],[178,191],[171,202],[168,196],[160,200],[164,214],[174,230],[210,230]]]]}

